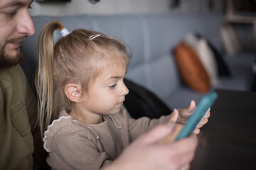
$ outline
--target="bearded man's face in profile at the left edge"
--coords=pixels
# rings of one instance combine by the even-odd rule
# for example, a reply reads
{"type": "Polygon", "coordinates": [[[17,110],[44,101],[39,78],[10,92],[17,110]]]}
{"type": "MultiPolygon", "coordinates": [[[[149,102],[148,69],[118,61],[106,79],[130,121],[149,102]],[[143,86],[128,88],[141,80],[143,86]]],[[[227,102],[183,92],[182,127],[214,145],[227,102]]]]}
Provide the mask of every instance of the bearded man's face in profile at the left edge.
{"type": "Polygon", "coordinates": [[[21,42],[35,28],[28,8],[33,0],[0,0],[0,68],[11,67],[23,58],[21,42]]]}

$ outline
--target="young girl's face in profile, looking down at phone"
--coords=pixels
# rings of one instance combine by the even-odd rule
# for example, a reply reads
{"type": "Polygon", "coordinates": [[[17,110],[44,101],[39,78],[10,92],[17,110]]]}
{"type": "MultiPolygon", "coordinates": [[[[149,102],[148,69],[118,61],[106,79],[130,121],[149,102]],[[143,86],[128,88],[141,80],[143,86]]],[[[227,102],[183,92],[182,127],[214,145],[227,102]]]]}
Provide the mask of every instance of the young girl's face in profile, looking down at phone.
{"type": "Polygon", "coordinates": [[[96,78],[95,83],[89,86],[88,92],[82,96],[82,109],[92,115],[118,113],[125,95],[129,93],[123,81],[126,69],[124,64],[113,64],[106,67],[96,78]]]}

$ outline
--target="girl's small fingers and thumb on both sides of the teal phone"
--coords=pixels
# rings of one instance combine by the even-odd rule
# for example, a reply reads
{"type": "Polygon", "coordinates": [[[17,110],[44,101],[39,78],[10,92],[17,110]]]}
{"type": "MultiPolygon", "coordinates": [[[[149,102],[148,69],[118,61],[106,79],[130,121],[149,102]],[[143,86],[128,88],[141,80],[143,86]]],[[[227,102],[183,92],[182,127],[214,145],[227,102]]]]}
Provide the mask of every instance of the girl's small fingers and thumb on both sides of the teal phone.
{"type": "MultiPolygon", "coordinates": [[[[169,119],[169,122],[176,122],[177,124],[182,124],[184,125],[188,118],[191,116],[193,111],[196,108],[196,103],[195,101],[191,101],[190,105],[188,108],[183,108],[183,109],[174,109],[174,112],[171,113],[171,117],[169,119]]],[[[193,131],[195,134],[200,133],[200,128],[203,127],[208,122],[208,118],[210,117],[210,112],[206,115],[205,118],[201,121],[200,125],[196,127],[196,129],[193,131]]]]}

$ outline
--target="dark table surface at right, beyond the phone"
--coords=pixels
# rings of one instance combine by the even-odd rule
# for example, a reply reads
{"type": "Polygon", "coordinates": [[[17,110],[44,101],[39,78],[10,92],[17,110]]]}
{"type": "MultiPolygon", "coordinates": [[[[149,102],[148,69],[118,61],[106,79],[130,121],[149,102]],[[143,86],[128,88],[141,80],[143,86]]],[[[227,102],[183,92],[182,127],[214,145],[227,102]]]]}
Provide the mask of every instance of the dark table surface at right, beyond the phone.
{"type": "Polygon", "coordinates": [[[191,169],[256,169],[256,92],[216,92],[191,169]]]}

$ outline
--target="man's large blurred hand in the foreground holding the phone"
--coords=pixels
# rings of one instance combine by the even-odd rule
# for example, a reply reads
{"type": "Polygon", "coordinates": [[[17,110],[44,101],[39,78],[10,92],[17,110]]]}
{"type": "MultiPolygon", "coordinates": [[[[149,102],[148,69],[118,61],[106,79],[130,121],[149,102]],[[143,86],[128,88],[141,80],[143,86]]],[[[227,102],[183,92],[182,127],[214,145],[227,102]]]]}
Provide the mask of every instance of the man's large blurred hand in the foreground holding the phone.
{"type": "Polygon", "coordinates": [[[104,170],[188,169],[193,160],[197,137],[191,135],[176,142],[159,143],[174,132],[174,123],[159,125],[135,140],[117,160],[104,170]]]}

